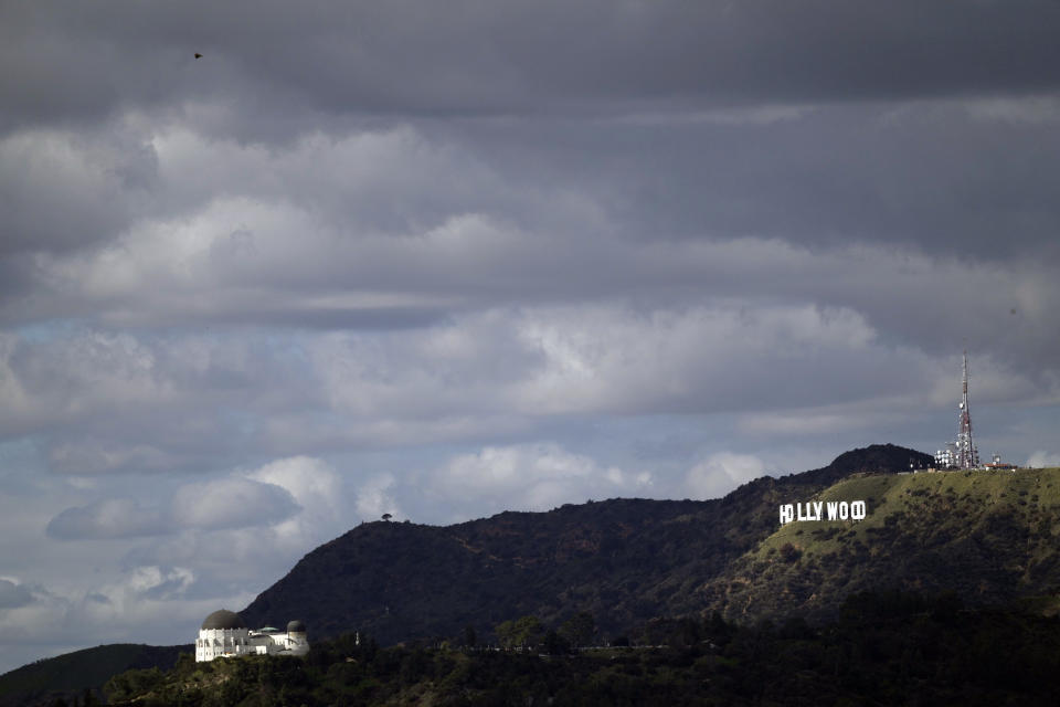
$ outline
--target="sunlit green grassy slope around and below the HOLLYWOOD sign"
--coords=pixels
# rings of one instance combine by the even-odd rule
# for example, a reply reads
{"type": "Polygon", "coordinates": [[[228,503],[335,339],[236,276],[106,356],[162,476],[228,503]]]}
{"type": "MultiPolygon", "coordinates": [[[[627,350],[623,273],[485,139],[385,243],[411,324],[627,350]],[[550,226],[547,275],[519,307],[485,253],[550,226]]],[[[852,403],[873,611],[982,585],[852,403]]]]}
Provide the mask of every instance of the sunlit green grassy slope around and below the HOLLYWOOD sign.
{"type": "Polygon", "coordinates": [[[807,498],[865,500],[854,521],[783,527],[699,588],[730,618],[828,614],[851,592],[953,591],[1051,610],[1060,593],[1060,469],[855,476],[807,498]]]}

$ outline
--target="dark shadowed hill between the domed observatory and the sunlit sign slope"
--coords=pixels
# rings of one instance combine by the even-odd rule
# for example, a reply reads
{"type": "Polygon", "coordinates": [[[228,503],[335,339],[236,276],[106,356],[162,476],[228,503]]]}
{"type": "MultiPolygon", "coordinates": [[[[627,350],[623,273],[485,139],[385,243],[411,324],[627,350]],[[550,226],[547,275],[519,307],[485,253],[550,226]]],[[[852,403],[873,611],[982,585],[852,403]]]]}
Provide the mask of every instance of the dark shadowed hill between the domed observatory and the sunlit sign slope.
{"type": "Polygon", "coordinates": [[[704,583],[770,538],[782,499],[808,498],[851,474],[893,475],[910,461],[930,457],[873,445],[714,500],[612,499],[448,527],[362,524],[307,555],[241,613],[252,625],[298,618],[316,636],[361,631],[393,643],[467,625],[489,635],[526,614],[559,623],[587,611],[614,635],[709,609],[704,583]]]}

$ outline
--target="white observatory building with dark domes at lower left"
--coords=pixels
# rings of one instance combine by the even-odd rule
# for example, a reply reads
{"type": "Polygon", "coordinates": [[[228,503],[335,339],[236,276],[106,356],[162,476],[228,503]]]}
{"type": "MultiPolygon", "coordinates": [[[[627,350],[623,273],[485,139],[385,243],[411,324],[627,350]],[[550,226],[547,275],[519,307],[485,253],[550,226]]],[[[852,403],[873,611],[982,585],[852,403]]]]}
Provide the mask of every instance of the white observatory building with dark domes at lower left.
{"type": "Polygon", "coordinates": [[[286,631],[266,626],[251,631],[234,611],[220,609],[202,622],[195,641],[195,662],[241,655],[305,655],[309,652],[306,625],[292,621],[286,631]]]}

